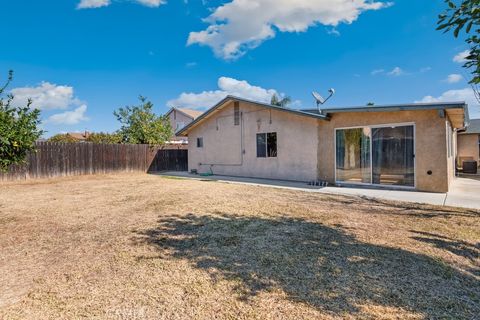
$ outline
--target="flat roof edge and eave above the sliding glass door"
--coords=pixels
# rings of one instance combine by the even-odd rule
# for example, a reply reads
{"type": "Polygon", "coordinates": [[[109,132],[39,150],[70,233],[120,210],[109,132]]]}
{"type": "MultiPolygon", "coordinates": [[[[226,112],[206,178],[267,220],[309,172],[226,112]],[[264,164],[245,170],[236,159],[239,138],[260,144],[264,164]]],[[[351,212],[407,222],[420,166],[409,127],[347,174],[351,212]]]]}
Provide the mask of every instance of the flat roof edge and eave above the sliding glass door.
{"type": "Polygon", "coordinates": [[[445,112],[456,128],[468,126],[470,121],[468,105],[465,102],[435,102],[435,103],[411,103],[392,104],[378,106],[361,106],[346,108],[306,109],[305,112],[315,112],[329,116],[341,112],[392,112],[392,111],[417,111],[417,110],[438,110],[439,114],[445,112]]]}

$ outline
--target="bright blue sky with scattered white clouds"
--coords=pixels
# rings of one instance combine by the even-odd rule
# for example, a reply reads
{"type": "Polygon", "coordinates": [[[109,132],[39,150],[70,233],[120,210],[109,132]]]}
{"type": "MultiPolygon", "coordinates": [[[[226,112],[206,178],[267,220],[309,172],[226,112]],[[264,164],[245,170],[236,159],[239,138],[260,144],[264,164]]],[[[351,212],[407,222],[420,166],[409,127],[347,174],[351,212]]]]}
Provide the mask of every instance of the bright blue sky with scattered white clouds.
{"type": "Polygon", "coordinates": [[[2,1],[0,75],[34,97],[47,136],[113,131],[113,110],[148,97],[206,108],[227,93],[314,106],[467,100],[462,39],[435,31],[443,0],[2,1]],[[301,5],[300,5],[301,4],[301,5]],[[457,56],[457,62],[454,57],[457,56]]]}

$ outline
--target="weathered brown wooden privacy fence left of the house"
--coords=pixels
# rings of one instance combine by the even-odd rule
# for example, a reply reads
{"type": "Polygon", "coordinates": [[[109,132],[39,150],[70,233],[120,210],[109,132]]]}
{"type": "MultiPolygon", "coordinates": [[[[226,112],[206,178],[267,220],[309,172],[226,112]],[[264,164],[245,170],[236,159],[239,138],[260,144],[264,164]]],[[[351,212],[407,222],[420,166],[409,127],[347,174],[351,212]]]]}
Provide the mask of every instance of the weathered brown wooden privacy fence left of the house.
{"type": "Polygon", "coordinates": [[[111,172],[188,170],[187,150],[144,144],[38,142],[27,164],[0,172],[1,180],[25,180],[111,172]]]}

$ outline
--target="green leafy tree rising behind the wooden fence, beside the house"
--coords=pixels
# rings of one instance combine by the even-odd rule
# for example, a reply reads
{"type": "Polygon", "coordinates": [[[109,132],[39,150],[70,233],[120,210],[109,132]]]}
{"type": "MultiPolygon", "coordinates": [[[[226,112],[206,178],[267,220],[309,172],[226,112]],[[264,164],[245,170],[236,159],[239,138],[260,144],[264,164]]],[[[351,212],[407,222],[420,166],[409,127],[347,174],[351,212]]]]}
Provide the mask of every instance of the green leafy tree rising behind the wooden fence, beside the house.
{"type": "Polygon", "coordinates": [[[122,124],[118,133],[125,143],[164,144],[173,135],[170,121],[153,113],[153,104],[140,96],[140,105],[119,108],[113,114],[122,124]]]}

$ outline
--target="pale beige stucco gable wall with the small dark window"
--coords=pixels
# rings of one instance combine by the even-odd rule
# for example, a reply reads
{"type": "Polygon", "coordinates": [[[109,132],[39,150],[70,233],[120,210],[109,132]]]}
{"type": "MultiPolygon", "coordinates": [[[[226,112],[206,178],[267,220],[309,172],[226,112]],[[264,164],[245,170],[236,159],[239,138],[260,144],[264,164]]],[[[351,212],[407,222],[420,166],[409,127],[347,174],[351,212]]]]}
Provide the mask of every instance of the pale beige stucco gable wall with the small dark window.
{"type": "Polygon", "coordinates": [[[241,125],[234,125],[233,102],[192,129],[188,135],[189,170],[204,173],[211,168],[220,175],[296,181],[317,178],[321,120],[244,102],[240,111],[243,133],[241,125]],[[268,132],[277,133],[278,156],[257,158],[256,134],[268,132]],[[197,148],[197,137],[203,137],[203,148],[197,148]]]}

